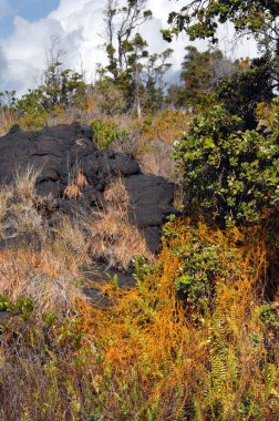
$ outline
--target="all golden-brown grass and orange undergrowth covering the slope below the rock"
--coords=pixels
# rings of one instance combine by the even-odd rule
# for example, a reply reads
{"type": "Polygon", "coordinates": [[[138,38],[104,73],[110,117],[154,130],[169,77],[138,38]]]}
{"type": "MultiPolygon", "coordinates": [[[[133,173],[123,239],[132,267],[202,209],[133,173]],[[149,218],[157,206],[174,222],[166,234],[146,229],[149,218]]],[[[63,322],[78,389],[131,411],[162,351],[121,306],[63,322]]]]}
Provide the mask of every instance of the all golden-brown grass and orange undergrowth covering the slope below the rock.
{"type": "MultiPolygon", "coordinates": [[[[11,212],[19,225],[22,215],[37,220],[32,177],[2,189],[3,224],[11,212]]],[[[122,179],[104,195],[103,212],[86,220],[61,217],[51,235],[41,219],[29,222],[43,238],[40,250],[0,251],[0,419],[276,420],[277,304],[264,297],[277,255],[265,228],[168,223],[162,255],[147,271],[137,269],[147,275],[128,290],[104,285],[111,306],[101,309],[82,292],[81,268],[92,257],[126,268],[136,255],[148,256],[128,223],[122,179]],[[210,269],[209,297],[187,301],[177,276],[189,274],[205,245],[218,246],[223,269],[210,269]]],[[[210,259],[200,260],[193,276],[208,267],[210,259]]]]}

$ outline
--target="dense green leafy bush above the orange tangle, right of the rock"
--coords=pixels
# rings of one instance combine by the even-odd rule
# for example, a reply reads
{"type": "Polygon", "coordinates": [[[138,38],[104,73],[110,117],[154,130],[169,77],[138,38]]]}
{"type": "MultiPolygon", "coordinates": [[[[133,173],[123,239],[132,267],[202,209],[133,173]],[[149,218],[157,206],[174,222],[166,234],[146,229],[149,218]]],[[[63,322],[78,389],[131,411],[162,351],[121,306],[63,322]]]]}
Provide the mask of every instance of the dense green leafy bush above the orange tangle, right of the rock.
{"type": "Polygon", "coordinates": [[[279,184],[277,136],[241,129],[241,119],[216,106],[194,117],[175,144],[187,208],[228,226],[259,220],[273,206],[279,184]]]}

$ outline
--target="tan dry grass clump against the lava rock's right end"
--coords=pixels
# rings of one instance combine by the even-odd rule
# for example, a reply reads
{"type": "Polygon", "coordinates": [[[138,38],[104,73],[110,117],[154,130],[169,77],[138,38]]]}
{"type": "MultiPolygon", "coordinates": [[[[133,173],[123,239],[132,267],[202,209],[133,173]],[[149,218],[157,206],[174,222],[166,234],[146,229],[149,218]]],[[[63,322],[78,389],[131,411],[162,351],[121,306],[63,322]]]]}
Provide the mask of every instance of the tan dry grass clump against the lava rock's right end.
{"type": "Polygon", "coordinates": [[[104,210],[96,213],[90,224],[91,250],[93,256],[104,259],[108,266],[126,269],[136,255],[149,253],[143,235],[128,220],[132,208],[121,178],[111,183],[104,197],[104,210]]]}

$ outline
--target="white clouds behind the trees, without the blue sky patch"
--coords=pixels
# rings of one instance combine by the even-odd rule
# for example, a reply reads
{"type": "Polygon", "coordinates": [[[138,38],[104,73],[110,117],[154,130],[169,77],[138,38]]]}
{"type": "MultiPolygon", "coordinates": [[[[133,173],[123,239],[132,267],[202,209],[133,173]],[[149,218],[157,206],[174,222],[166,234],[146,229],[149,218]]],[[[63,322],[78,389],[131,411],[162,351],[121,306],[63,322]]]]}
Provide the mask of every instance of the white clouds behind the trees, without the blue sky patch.
{"type": "MultiPolygon", "coordinates": [[[[3,4],[3,0],[0,0],[0,13],[4,10],[1,8],[3,4]]],[[[35,85],[39,70],[45,66],[45,48],[50,45],[52,37],[61,39],[61,48],[66,52],[64,64],[80,70],[82,63],[87,78],[92,80],[95,64],[105,62],[105,52],[100,49],[104,42],[101,37],[104,33],[104,0],[61,0],[56,10],[45,19],[29,22],[17,17],[13,33],[0,43],[0,91],[16,89],[18,94],[22,94],[35,85]]],[[[172,60],[174,72],[177,72],[184,48],[188,44],[187,37],[182,35],[169,45],[163,41],[159,29],[166,25],[168,12],[178,6],[169,0],[148,0],[147,6],[154,19],[142,29],[143,34],[153,52],[168,47],[175,50],[172,60]]],[[[197,44],[203,49],[207,47],[207,42],[197,44]]],[[[246,57],[249,52],[246,43],[241,55],[246,57]]]]}

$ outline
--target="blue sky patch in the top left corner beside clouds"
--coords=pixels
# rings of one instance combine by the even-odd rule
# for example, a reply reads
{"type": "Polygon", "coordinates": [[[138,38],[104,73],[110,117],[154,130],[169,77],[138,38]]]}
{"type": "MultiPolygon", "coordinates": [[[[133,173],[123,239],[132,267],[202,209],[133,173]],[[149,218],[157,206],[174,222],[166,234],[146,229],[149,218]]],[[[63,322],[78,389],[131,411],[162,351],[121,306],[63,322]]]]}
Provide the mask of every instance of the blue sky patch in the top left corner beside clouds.
{"type": "Polygon", "coordinates": [[[0,1],[0,8],[1,4],[6,4],[6,12],[0,18],[0,38],[6,38],[14,30],[13,19],[16,16],[30,22],[37,21],[45,18],[55,9],[59,0],[6,0],[6,2],[0,1]]]}

